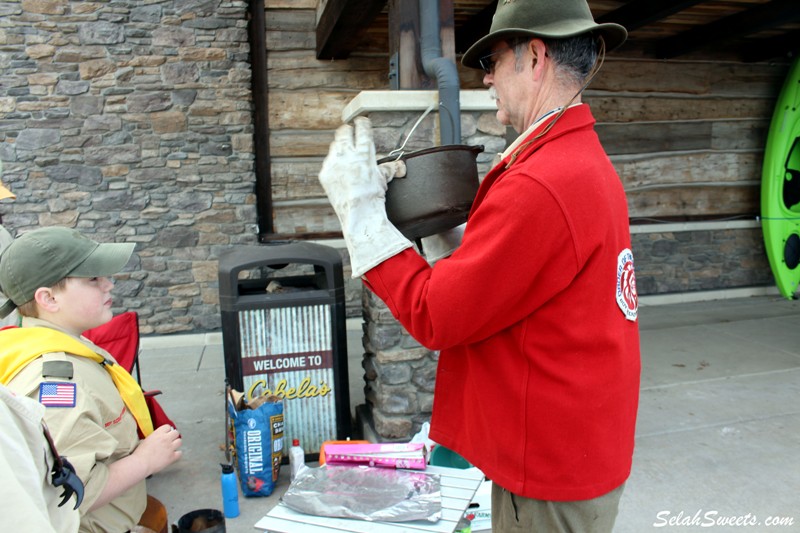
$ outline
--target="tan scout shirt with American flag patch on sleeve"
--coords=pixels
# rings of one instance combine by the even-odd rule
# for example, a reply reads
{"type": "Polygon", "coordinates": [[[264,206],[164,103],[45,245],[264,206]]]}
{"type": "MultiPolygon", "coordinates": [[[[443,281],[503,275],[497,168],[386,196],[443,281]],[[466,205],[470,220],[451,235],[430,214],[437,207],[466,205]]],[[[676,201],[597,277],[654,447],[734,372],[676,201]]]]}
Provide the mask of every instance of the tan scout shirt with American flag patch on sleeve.
{"type": "MultiPolygon", "coordinates": [[[[29,317],[23,317],[22,325],[64,332],[29,317]]],[[[102,348],[84,338],[78,340],[114,361],[102,348]]],[[[7,386],[47,408],[45,422],[56,447],[85,485],[80,531],[119,533],[133,528],[147,505],[144,480],[107,505],[88,511],[108,481],[108,466],[130,455],[139,444],[136,420],[103,366],[86,357],[48,353],[29,363],[7,386]]]]}

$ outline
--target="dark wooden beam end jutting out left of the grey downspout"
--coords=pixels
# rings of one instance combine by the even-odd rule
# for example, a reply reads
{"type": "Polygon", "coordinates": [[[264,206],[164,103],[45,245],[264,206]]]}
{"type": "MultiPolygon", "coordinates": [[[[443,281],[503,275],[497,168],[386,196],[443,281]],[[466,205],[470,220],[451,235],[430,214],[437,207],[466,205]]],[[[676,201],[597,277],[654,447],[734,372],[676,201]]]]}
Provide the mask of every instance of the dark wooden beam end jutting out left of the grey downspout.
{"type": "Polygon", "coordinates": [[[317,23],[317,59],[347,59],[387,0],[328,0],[317,23]]]}

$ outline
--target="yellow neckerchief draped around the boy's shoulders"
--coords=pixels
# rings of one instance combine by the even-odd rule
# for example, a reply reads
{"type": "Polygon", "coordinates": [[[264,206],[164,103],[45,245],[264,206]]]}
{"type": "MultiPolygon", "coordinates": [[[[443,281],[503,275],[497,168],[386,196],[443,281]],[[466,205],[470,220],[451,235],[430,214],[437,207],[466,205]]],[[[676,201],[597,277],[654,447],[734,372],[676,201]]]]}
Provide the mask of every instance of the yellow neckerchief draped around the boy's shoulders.
{"type": "Polygon", "coordinates": [[[150,410],[142,388],[127,370],[109,361],[74,337],[55,329],[44,327],[8,328],[0,332],[0,383],[7,385],[14,376],[37,357],[50,352],[66,352],[87,357],[106,369],[146,437],[153,432],[150,410]]]}

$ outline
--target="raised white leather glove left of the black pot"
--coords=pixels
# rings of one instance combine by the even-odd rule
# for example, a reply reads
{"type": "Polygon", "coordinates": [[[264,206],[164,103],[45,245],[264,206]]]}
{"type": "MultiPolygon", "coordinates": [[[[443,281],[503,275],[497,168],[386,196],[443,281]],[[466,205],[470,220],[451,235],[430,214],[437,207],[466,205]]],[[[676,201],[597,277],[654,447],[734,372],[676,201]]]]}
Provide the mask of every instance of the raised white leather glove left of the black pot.
{"type": "Polygon", "coordinates": [[[386,187],[398,171],[405,173],[402,161],[378,166],[368,119],[336,130],[319,182],[342,225],[354,278],[412,246],[386,216],[386,187]]]}

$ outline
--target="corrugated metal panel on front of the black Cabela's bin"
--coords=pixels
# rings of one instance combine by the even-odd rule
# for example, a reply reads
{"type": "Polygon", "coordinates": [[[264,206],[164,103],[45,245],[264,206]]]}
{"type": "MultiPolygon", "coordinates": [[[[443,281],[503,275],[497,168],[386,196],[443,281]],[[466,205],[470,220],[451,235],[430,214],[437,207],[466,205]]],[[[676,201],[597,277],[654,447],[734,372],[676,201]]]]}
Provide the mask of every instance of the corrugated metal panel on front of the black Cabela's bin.
{"type": "MultiPolygon", "coordinates": [[[[306,453],[317,453],[322,443],[336,438],[336,391],[333,380],[331,306],[275,307],[239,312],[239,333],[243,363],[248,358],[296,356],[312,361],[317,355],[325,364],[306,364],[291,370],[269,370],[244,375],[245,392],[265,390],[284,398],[284,435],[300,439],[306,453]],[[324,392],[324,387],[330,389],[324,392]],[[316,390],[314,389],[316,388],[316,390]],[[291,390],[299,398],[291,396],[291,390]]],[[[291,358],[275,357],[288,361],[291,358]]],[[[288,450],[288,446],[284,449],[288,450]]]]}

